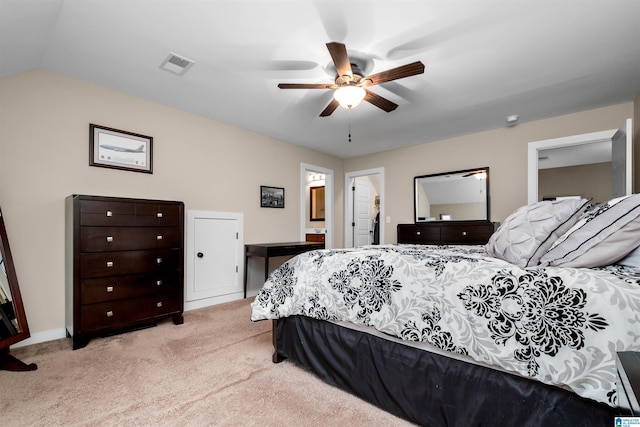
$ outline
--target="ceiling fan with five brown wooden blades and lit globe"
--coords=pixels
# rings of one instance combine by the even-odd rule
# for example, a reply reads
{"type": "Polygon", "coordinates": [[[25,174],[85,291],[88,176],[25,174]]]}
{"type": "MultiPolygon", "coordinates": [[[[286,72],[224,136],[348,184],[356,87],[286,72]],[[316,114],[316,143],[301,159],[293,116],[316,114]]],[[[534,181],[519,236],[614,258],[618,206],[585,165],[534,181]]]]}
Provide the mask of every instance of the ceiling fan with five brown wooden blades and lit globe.
{"type": "Polygon", "coordinates": [[[349,59],[347,47],[343,43],[327,43],[327,49],[338,73],[334,83],[280,83],[278,85],[280,89],[334,90],[334,98],[322,110],[320,117],[331,115],[338,108],[338,105],[349,109],[356,107],[363,99],[387,113],[393,111],[398,108],[398,104],[371,92],[367,88],[424,73],[424,64],[416,61],[365,77],[358,66],[349,59]]]}

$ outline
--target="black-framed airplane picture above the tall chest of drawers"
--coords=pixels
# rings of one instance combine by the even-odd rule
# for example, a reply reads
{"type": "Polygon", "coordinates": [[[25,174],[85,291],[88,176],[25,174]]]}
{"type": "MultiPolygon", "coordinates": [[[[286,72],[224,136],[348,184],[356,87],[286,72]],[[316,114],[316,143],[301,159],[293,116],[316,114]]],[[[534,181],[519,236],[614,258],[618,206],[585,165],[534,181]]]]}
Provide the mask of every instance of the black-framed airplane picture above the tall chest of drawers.
{"type": "Polygon", "coordinates": [[[153,137],[90,124],[89,166],[153,173],[153,137]]]}

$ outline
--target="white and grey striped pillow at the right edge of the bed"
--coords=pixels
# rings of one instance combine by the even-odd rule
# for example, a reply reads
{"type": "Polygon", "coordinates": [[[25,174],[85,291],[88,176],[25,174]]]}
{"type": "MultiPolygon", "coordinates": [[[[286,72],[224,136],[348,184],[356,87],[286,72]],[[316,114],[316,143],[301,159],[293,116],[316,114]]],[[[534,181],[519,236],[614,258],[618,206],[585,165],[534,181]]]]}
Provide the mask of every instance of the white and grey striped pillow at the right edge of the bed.
{"type": "Polygon", "coordinates": [[[584,215],[540,259],[542,265],[602,267],[640,245],[640,194],[618,197],[584,215]]]}

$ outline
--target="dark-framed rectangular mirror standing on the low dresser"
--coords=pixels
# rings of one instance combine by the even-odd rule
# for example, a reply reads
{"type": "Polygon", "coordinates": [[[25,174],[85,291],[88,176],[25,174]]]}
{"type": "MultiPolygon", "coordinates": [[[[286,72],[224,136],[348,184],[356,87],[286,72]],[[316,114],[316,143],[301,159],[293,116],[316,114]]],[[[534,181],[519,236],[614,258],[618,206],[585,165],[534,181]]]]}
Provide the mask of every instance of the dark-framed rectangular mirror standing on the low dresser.
{"type": "Polygon", "coordinates": [[[489,220],[489,168],[416,176],[415,222],[489,220]]]}

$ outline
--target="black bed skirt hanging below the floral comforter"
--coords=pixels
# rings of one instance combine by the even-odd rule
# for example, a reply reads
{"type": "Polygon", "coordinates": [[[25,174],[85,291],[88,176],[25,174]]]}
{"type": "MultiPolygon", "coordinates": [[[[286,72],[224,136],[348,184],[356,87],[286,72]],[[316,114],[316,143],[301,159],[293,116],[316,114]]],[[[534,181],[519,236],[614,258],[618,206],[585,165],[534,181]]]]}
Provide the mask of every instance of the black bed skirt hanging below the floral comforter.
{"type": "Polygon", "coordinates": [[[303,316],[277,321],[279,356],[423,426],[613,426],[616,410],[526,378],[303,316]]]}

